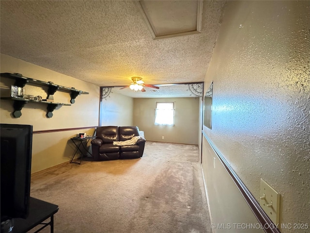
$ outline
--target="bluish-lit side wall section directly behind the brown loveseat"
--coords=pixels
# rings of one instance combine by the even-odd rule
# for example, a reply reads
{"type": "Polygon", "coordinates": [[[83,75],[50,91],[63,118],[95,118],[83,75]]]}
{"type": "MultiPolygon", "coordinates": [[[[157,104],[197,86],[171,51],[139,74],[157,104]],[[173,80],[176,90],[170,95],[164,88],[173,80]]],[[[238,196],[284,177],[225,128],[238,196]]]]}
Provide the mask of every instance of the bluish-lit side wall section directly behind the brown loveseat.
{"type": "Polygon", "coordinates": [[[133,125],[133,105],[133,98],[112,92],[100,102],[100,126],[133,125]]]}

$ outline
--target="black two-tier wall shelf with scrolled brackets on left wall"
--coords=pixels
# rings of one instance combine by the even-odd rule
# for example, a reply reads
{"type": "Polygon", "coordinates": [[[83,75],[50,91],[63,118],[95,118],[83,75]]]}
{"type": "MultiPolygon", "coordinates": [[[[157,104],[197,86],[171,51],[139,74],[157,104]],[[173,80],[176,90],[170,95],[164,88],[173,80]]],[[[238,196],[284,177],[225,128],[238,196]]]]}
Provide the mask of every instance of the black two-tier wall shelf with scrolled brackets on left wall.
{"type": "MultiPolygon", "coordinates": [[[[22,76],[21,74],[17,73],[1,73],[1,77],[5,78],[10,78],[14,79],[15,83],[14,85],[19,86],[19,87],[24,87],[26,84],[34,84],[34,85],[39,85],[39,86],[47,86],[47,99],[50,95],[53,95],[57,90],[65,91],[70,93],[71,103],[75,103],[75,99],[78,95],[80,94],[89,94],[88,92],[85,91],[80,91],[75,89],[74,87],[65,87],[61,85],[54,84],[52,82],[45,82],[45,81],[40,81],[36,79],[31,79],[22,76]]],[[[13,100],[13,116],[14,117],[20,117],[21,116],[21,110],[25,106],[26,103],[31,102],[31,103],[44,103],[47,104],[47,117],[50,118],[53,116],[53,111],[55,108],[59,105],[64,105],[64,106],[71,106],[70,103],[58,103],[58,102],[52,102],[52,101],[44,101],[44,100],[28,100],[28,99],[23,99],[23,98],[15,98],[15,97],[1,97],[0,99],[2,100],[13,100]]]]}

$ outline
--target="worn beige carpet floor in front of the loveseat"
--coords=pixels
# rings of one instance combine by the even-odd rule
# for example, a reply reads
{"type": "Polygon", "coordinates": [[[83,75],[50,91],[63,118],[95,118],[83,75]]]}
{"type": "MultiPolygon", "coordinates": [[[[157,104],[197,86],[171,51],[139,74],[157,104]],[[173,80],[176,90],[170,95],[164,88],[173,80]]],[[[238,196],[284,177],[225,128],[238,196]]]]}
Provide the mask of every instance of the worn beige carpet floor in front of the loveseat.
{"type": "Polygon", "coordinates": [[[59,205],[55,233],[211,233],[199,156],[194,145],[146,142],[140,159],[34,174],[31,197],[59,205]]]}

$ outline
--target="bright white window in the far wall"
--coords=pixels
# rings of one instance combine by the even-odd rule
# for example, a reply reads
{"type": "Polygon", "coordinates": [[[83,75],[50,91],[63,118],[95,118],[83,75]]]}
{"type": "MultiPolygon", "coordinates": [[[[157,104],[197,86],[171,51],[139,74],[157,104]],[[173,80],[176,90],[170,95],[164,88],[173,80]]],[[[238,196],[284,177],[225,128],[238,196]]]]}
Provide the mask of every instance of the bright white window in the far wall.
{"type": "Polygon", "coordinates": [[[173,125],[173,116],[173,102],[156,102],[155,125],[173,125]]]}

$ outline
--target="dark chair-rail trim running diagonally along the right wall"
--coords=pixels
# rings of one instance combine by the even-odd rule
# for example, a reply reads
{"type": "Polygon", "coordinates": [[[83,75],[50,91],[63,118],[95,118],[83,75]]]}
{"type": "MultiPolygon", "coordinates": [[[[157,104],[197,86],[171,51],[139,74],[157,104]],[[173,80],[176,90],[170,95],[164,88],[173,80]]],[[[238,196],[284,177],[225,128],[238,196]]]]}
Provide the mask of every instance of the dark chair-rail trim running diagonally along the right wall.
{"type": "Polygon", "coordinates": [[[252,210],[254,216],[257,218],[261,226],[266,226],[266,228],[263,228],[265,233],[281,233],[278,228],[276,228],[276,224],[274,224],[270,218],[267,216],[267,214],[263,211],[262,207],[258,203],[258,201],[254,198],[254,196],[251,194],[251,192],[248,190],[247,186],[241,181],[241,179],[238,177],[238,175],[234,172],[233,168],[229,165],[229,163],[226,161],[224,156],[221,154],[221,152],[217,149],[217,147],[213,144],[211,139],[202,131],[203,136],[208,141],[214,152],[217,154],[218,159],[222,163],[222,165],[225,167],[226,171],[230,175],[230,177],[233,179],[233,182],[239,189],[240,193],[242,194],[243,198],[248,203],[248,206],[252,210]],[[275,228],[272,229],[270,226],[274,226],[275,228]]]}

